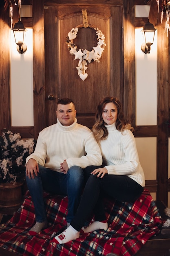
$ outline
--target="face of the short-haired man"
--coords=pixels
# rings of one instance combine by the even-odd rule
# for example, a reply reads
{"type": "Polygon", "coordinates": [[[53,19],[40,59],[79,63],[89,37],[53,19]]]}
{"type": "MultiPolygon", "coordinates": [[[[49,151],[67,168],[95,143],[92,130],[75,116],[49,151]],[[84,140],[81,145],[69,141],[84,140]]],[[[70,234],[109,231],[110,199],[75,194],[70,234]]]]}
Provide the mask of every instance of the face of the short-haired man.
{"type": "Polygon", "coordinates": [[[76,110],[73,103],[57,106],[57,118],[63,126],[70,126],[74,122],[76,116],[76,110]]]}

